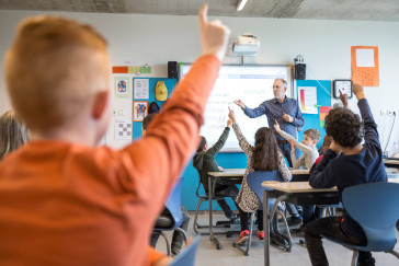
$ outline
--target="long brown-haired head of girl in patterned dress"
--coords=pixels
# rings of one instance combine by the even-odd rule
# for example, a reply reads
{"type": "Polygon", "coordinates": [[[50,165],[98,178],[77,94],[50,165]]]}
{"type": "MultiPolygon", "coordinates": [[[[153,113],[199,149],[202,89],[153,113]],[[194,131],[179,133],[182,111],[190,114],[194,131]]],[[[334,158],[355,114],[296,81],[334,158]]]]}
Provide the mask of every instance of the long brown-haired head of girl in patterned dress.
{"type": "Polygon", "coordinates": [[[272,129],[261,127],[255,132],[252,161],[252,166],[255,171],[273,171],[278,169],[278,146],[272,129]]]}

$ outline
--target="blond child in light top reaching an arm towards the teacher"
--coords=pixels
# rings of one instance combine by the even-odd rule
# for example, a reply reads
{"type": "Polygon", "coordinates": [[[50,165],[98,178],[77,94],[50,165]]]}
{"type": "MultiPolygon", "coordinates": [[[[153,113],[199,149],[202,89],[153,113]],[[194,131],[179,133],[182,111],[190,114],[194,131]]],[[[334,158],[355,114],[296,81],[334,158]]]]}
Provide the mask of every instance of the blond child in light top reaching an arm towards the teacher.
{"type": "Polygon", "coordinates": [[[274,129],[292,144],[290,160],[293,161],[293,167],[299,169],[310,169],[314,162],[319,157],[316,144],[320,140],[320,132],[317,129],[308,129],[304,132],[304,140],[300,143],[290,135],[286,134],[284,130],[280,129],[278,122],[275,120],[274,129]],[[304,152],[304,154],[297,160],[294,153],[295,147],[304,152]]]}

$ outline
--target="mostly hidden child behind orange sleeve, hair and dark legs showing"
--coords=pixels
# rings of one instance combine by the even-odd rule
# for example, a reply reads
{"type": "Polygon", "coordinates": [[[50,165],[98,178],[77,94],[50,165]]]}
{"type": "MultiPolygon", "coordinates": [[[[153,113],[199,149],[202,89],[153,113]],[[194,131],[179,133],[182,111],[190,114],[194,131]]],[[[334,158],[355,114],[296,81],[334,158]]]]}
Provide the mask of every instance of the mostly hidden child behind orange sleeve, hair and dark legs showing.
{"type": "MultiPolygon", "coordinates": [[[[156,117],[156,115],[157,115],[156,113],[155,114],[149,114],[142,119],[142,124],[141,124],[142,137],[146,136],[147,129],[148,129],[151,120],[156,117]]],[[[184,230],[184,232],[187,232],[190,216],[189,216],[189,212],[186,211],[186,209],[184,208],[183,205],[180,205],[180,208],[182,210],[182,217],[183,217],[183,221],[182,221],[182,224],[180,225],[180,228],[182,230],[184,230]]],[[[163,209],[162,213],[166,213],[166,215],[170,216],[170,212],[167,209],[163,209]]],[[[159,239],[159,232],[152,232],[151,233],[151,240],[150,240],[150,245],[152,247],[156,247],[158,239],[159,239]]],[[[180,232],[179,230],[174,230],[173,238],[172,238],[172,243],[171,243],[171,252],[172,252],[173,256],[176,256],[180,253],[180,251],[183,247],[183,242],[184,242],[183,233],[180,232]]]]}

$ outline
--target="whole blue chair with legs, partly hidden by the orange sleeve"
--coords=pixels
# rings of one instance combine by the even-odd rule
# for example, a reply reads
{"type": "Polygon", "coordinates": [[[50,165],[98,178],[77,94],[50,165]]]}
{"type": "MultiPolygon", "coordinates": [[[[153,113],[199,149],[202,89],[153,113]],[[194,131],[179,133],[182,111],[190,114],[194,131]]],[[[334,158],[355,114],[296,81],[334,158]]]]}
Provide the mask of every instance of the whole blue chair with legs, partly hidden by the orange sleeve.
{"type": "Polygon", "coordinates": [[[183,216],[181,210],[183,181],[184,181],[183,177],[180,177],[178,180],[164,205],[167,211],[162,211],[162,213],[158,217],[153,229],[153,232],[162,235],[164,241],[167,242],[168,256],[171,255],[171,244],[167,235],[163,233],[163,231],[178,230],[184,235],[184,241],[185,242],[187,241],[187,236],[184,230],[179,228],[183,221],[183,216]]]}

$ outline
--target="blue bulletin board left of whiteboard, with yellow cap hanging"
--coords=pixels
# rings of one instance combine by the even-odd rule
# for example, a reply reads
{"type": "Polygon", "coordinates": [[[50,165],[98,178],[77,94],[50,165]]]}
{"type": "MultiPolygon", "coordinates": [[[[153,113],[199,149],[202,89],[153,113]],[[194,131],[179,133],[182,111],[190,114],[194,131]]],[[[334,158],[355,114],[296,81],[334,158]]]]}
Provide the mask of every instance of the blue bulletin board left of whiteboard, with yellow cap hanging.
{"type": "MultiPolygon", "coordinates": [[[[178,79],[168,79],[168,78],[133,78],[132,81],[132,85],[133,85],[133,102],[136,101],[146,101],[148,102],[148,107],[150,105],[150,103],[156,102],[159,106],[159,108],[161,109],[163,106],[164,102],[161,101],[157,101],[156,100],[156,85],[158,81],[163,81],[167,89],[168,89],[168,99],[170,97],[172,91],[174,90],[176,83],[178,83],[178,79]],[[134,93],[134,84],[135,84],[135,80],[136,79],[148,79],[149,81],[149,95],[148,99],[142,100],[142,99],[135,99],[135,93],[134,93]]],[[[135,140],[137,138],[141,138],[142,134],[141,134],[141,122],[133,122],[133,130],[132,130],[132,140],[135,140]]]]}

